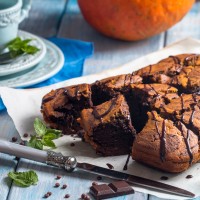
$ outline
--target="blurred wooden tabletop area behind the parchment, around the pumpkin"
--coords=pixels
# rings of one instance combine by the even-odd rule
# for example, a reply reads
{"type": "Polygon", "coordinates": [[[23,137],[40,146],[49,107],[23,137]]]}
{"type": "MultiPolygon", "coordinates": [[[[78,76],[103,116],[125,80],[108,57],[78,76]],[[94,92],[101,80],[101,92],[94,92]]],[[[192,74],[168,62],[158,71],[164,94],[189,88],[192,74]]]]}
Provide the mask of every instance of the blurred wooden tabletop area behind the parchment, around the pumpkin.
{"type": "Polygon", "coordinates": [[[33,0],[29,18],[20,24],[20,29],[46,38],[56,36],[93,42],[94,55],[85,62],[85,75],[117,67],[186,37],[200,39],[199,11],[197,1],[189,13],[166,32],[142,41],[126,42],[108,38],[91,28],[83,19],[76,0],[33,0]]]}

